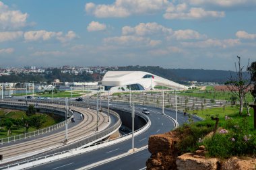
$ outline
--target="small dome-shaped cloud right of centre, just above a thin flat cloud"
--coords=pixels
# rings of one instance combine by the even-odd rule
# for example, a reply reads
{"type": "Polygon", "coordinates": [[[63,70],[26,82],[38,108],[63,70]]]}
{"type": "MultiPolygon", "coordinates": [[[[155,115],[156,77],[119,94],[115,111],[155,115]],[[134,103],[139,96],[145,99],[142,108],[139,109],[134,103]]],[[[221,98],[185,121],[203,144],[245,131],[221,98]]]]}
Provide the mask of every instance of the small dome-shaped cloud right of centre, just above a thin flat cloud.
{"type": "Polygon", "coordinates": [[[177,40],[198,40],[206,38],[205,35],[199,34],[194,30],[177,30],[174,32],[172,37],[176,38],[177,40]]]}

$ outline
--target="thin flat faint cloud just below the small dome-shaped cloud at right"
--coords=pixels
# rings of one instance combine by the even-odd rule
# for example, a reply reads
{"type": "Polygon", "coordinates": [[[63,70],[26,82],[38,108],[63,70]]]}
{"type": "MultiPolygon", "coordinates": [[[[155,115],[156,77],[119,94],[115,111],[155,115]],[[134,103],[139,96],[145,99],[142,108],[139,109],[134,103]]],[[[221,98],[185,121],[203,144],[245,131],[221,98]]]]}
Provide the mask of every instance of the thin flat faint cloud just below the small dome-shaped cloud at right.
{"type": "Polygon", "coordinates": [[[195,48],[212,48],[212,47],[220,47],[220,48],[228,48],[231,46],[236,46],[241,44],[238,39],[226,39],[226,40],[214,40],[207,39],[199,42],[181,42],[183,46],[187,47],[195,47],[195,48]]]}

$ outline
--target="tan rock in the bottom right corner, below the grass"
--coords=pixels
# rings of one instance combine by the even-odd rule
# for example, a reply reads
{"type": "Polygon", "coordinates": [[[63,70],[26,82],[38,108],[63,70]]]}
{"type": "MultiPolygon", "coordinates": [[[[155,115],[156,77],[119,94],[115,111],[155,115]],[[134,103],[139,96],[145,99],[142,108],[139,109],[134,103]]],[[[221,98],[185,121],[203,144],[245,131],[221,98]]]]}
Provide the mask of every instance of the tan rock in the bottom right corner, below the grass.
{"type": "Polygon", "coordinates": [[[232,157],[227,161],[222,163],[222,170],[252,170],[256,169],[256,159],[246,158],[246,159],[238,159],[237,157],[232,157]]]}

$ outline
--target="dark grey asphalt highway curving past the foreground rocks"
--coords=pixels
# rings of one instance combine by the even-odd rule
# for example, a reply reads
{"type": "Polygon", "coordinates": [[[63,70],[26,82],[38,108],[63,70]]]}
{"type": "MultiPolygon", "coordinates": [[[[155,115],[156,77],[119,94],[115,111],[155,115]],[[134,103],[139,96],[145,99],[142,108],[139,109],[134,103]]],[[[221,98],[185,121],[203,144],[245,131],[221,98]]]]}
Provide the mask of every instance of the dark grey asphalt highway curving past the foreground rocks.
{"type": "MultiPolygon", "coordinates": [[[[135,110],[141,110],[142,108],[142,106],[136,106],[135,110]]],[[[162,109],[149,107],[148,109],[150,110],[148,117],[151,120],[151,126],[145,132],[135,136],[135,148],[141,148],[142,146],[148,145],[148,138],[150,135],[162,134],[174,128],[174,122],[162,115],[162,109]]],[[[175,118],[175,112],[173,111],[166,111],[165,114],[175,118]]],[[[178,122],[180,125],[187,122],[188,116],[184,116],[183,114],[178,114],[178,116],[178,122]]],[[[194,118],[194,120],[198,121],[196,118],[194,118]]],[[[131,149],[131,139],[119,142],[118,144],[106,146],[105,148],[95,151],[75,155],[67,159],[61,159],[59,161],[54,161],[38,167],[32,167],[30,169],[79,169],[91,165],[92,163],[97,163],[99,161],[104,161],[111,157],[127,153],[129,149],[131,149]]],[[[150,153],[148,152],[148,148],[146,148],[143,151],[129,155],[122,159],[107,161],[107,164],[94,167],[94,169],[143,169],[146,167],[146,160],[149,157],[150,153]],[[133,166],[133,168],[131,168],[131,166],[133,166]]]]}

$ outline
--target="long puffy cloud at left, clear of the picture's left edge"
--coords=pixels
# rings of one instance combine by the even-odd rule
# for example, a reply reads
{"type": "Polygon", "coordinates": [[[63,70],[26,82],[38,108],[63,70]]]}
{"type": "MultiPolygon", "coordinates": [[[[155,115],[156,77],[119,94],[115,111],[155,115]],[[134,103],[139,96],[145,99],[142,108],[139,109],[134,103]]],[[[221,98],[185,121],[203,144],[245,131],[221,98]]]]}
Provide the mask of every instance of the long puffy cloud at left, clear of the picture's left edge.
{"type": "Polygon", "coordinates": [[[67,32],[67,34],[63,35],[63,32],[47,32],[46,30],[38,30],[38,31],[29,31],[24,33],[24,40],[29,41],[38,41],[38,40],[52,40],[56,38],[60,42],[68,42],[76,38],[77,35],[73,31],[67,32]]]}

